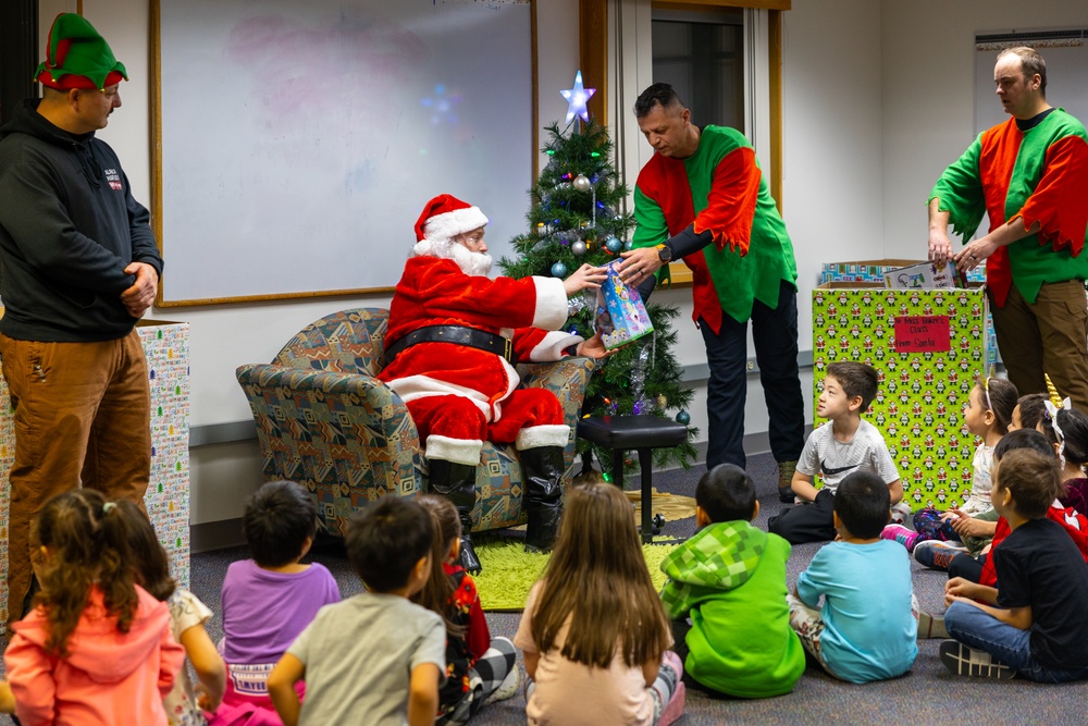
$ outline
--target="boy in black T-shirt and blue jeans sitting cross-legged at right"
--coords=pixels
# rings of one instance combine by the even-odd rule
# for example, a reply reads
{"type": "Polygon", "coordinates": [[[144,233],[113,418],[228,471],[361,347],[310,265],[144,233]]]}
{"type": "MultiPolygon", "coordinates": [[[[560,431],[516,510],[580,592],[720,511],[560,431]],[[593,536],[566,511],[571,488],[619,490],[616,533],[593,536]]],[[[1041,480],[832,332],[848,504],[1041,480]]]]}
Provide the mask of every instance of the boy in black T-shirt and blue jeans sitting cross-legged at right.
{"type": "Polygon", "coordinates": [[[1061,682],[1088,677],[1088,565],[1047,512],[1061,492],[1054,459],[1011,451],[993,470],[993,506],[1011,530],[991,552],[1000,589],[949,580],[941,643],[954,674],[1061,682]],[[976,602],[976,601],[982,602],[976,602]]]}

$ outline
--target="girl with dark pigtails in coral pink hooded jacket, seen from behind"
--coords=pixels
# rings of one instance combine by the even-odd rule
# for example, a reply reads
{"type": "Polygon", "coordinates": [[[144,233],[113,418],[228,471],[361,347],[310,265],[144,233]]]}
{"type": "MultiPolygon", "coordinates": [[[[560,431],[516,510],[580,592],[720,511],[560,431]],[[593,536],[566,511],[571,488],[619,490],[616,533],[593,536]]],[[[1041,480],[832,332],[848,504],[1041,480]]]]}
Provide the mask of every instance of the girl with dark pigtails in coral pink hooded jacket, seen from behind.
{"type": "Polygon", "coordinates": [[[4,652],[20,721],[165,724],[162,699],[185,651],[166,603],[135,582],[118,505],[92,489],[60,494],[34,520],[30,543],[41,589],[4,652]]]}

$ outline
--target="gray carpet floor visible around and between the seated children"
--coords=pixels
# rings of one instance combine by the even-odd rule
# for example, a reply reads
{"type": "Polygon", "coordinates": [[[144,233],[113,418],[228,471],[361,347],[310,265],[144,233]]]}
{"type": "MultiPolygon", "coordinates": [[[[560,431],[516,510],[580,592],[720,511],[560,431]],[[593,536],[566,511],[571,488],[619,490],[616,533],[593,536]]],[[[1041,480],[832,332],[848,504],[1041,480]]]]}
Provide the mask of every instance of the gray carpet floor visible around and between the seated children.
{"type": "MultiPolygon", "coordinates": [[[[777,473],[770,455],[749,458],[749,472],[756,482],[761,515],[756,525],[766,529],[767,518],[778,513],[777,473]]],[[[656,472],[654,485],[659,491],[694,496],[695,483],[705,471],[702,466],[684,470],[656,472]]],[[[633,485],[636,477],[629,478],[633,485]]],[[[667,522],[665,537],[687,537],[694,519],[667,522]]],[[[818,544],[793,547],[788,564],[790,588],[804,570],[818,544]]],[[[227,564],[245,557],[244,547],[198,554],[193,557],[193,591],[212,611],[219,611],[219,590],[227,564]]],[[[361,587],[341,553],[327,547],[313,557],[336,576],[345,596],[361,587]]],[[[914,588],[924,610],[943,611],[944,573],[928,570],[914,563],[914,588]]],[[[1086,604],[1088,605],[1088,604],[1086,604]]],[[[1088,608],[1086,608],[1088,610],[1088,608]]],[[[1088,613],[1086,613],[1088,615],[1088,613]]],[[[519,614],[491,613],[487,622],[493,636],[512,638],[519,614]]],[[[220,635],[218,617],[211,623],[212,636],[220,635]]],[[[939,640],[919,641],[919,654],[913,670],[890,681],[857,686],[827,676],[809,664],[789,696],[746,701],[714,699],[701,692],[688,692],[685,715],[680,724],[1085,724],[1088,723],[1088,682],[1043,686],[1024,680],[989,681],[961,678],[949,674],[938,659],[939,640]]],[[[1088,648],[1088,643],[1085,643],[1088,648]]],[[[519,659],[520,667],[520,659],[519,659]]],[[[486,706],[472,719],[480,726],[524,724],[524,699],[486,706]]]]}

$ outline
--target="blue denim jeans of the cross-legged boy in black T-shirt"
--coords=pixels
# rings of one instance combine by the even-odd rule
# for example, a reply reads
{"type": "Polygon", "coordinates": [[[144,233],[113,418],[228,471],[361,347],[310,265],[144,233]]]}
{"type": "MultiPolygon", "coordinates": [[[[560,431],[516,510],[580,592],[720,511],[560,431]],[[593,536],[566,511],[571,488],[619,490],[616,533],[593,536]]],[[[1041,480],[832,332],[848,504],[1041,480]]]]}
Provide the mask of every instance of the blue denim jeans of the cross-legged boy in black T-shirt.
{"type": "Polygon", "coordinates": [[[944,613],[944,627],[960,642],[984,650],[1017,675],[1043,684],[1061,684],[1088,677],[1086,668],[1048,668],[1031,656],[1031,630],[1002,623],[974,605],[954,602],[944,613]]]}

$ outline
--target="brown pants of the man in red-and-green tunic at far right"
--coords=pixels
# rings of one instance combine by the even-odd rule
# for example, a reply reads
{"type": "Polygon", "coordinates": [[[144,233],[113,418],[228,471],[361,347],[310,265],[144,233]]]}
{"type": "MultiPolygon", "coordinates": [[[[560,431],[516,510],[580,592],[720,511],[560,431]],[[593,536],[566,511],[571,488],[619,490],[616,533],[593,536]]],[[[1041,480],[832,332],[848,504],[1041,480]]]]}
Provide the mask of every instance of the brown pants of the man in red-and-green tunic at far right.
{"type": "Polygon", "coordinates": [[[1009,380],[1019,395],[1046,393],[1043,372],[1075,408],[1088,413],[1088,304],[1081,280],[1047,283],[1035,303],[1016,285],[993,305],[993,330],[1009,380]]]}

